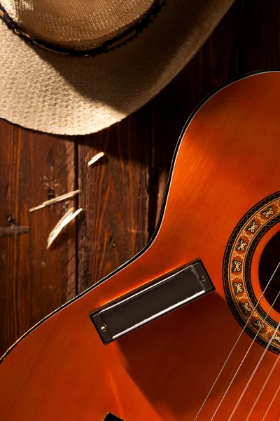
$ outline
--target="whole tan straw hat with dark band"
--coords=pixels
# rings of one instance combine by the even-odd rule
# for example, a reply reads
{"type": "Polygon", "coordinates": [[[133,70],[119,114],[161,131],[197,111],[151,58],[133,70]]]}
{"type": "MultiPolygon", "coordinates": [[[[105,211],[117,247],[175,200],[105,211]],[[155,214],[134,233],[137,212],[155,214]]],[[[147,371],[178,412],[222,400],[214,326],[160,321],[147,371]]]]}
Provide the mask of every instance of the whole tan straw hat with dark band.
{"type": "Polygon", "coordinates": [[[151,100],[233,0],[0,0],[0,118],[94,133],[151,100]]]}

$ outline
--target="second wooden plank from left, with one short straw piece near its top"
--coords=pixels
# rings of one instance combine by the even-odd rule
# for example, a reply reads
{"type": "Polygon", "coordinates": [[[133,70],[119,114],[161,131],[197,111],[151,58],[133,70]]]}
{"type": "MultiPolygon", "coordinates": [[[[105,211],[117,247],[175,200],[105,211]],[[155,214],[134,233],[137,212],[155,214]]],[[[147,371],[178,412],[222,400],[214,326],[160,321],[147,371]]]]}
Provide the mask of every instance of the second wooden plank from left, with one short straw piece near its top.
{"type": "Polygon", "coordinates": [[[78,291],[132,258],[148,239],[151,106],[100,133],[78,139],[78,291]],[[106,156],[87,168],[98,152],[106,156]]]}

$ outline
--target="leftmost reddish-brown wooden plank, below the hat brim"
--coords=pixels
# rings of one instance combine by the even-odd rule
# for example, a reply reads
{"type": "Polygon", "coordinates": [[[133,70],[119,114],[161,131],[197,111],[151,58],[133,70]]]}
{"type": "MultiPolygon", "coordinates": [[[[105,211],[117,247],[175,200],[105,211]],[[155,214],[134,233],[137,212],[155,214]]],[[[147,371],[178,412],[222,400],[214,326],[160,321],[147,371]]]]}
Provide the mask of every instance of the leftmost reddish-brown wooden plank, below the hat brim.
{"type": "MultiPolygon", "coordinates": [[[[69,206],[28,209],[73,189],[74,144],[0,121],[0,353],[76,293],[75,225],[50,250],[69,206]]],[[[73,202],[73,201],[72,201],[73,202]]],[[[71,203],[69,201],[69,203],[71,203]]]]}

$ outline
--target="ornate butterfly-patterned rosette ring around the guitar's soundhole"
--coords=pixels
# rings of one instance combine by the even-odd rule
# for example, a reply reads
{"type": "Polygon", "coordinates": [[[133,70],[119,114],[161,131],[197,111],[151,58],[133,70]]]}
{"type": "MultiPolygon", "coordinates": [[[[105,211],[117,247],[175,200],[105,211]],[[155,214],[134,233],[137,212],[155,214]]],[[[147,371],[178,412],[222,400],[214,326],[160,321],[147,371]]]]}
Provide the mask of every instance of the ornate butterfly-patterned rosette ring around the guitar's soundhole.
{"type": "MultiPolygon", "coordinates": [[[[259,286],[256,289],[255,269],[252,269],[251,265],[260,241],[265,241],[269,230],[279,227],[279,222],[280,192],[276,192],[256,203],[239,221],[225,249],[223,267],[225,295],[237,321],[262,347],[268,347],[277,354],[280,354],[280,335],[277,333],[275,338],[272,338],[272,332],[278,326],[274,312],[280,314],[280,297],[273,305],[274,312],[269,312],[269,305],[272,305],[280,290],[280,268],[271,283],[269,279],[280,260],[279,229],[278,234],[266,243],[262,251],[258,266],[259,286]],[[265,290],[268,283],[269,286],[265,290]],[[259,302],[261,290],[265,291],[266,300],[259,302]]],[[[258,251],[256,253],[258,256],[258,251]]]]}

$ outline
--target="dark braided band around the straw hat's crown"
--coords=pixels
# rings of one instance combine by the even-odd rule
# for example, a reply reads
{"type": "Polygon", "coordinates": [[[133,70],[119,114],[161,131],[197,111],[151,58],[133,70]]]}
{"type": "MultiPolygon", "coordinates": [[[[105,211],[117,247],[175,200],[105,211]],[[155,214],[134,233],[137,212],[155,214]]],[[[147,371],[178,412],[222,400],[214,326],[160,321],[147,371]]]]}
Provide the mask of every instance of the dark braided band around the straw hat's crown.
{"type": "Polygon", "coordinates": [[[118,36],[114,36],[109,41],[106,41],[101,46],[91,48],[86,51],[75,50],[74,48],[64,48],[60,46],[54,46],[52,44],[45,43],[41,40],[34,39],[29,36],[26,32],[23,32],[20,29],[20,25],[15,22],[10,15],[6,12],[3,6],[0,4],[0,19],[6,24],[6,26],[11,29],[14,34],[20,36],[20,38],[29,42],[33,46],[43,48],[43,50],[50,51],[51,53],[61,54],[61,55],[70,55],[76,57],[94,57],[94,55],[108,53],[109,51],[114,50],[120,46],[127,44],[127,42],[132,41],[136,38],[160,13],[162,6],[165,5],[166,0],[156,0],[153,6],[148,10],[146,15],[136,22],[132,27],[128,28],[118,36]]]}

